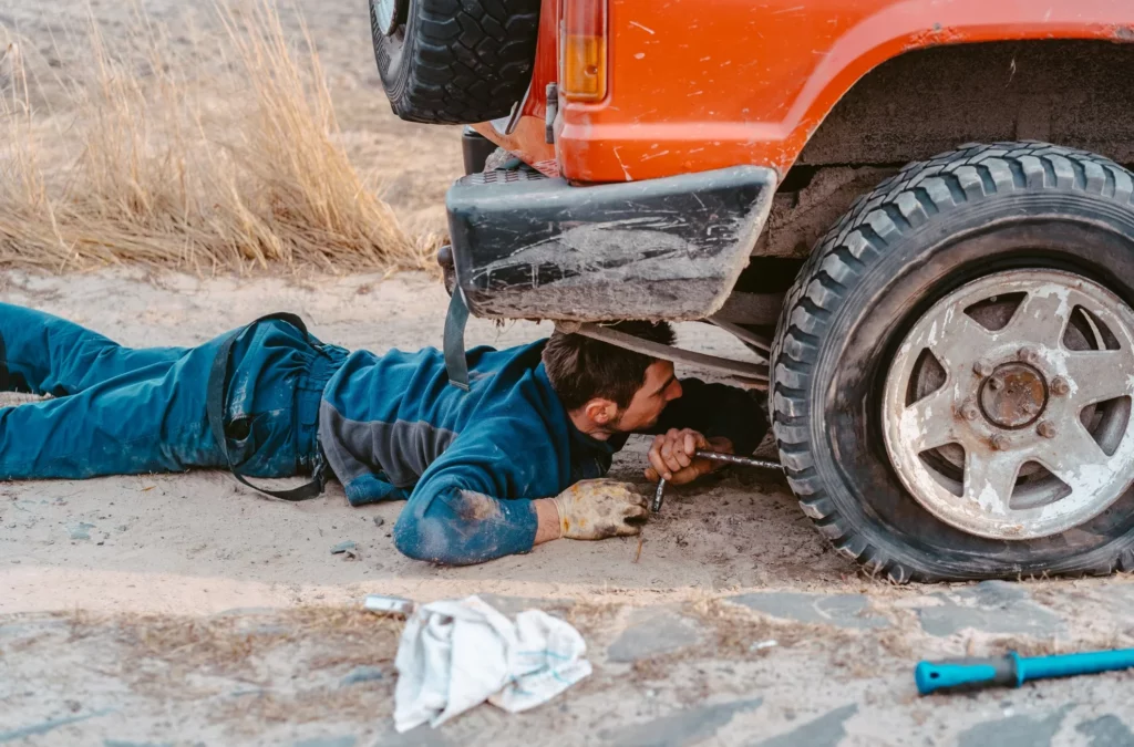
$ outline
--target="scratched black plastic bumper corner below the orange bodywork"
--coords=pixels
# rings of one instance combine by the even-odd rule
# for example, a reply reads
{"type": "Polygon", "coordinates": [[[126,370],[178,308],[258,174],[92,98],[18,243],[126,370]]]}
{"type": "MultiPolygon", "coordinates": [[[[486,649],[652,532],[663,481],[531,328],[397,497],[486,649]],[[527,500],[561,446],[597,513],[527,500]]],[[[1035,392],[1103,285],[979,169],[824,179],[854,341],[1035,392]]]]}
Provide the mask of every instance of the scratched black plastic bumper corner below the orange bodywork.
{"type": "Polygon", "coordinates": [[[447,198],[457,282],[477,316],[703,319],[747,264],[776,184],[754,165],[592,187],[469,175],[447,198]]]}

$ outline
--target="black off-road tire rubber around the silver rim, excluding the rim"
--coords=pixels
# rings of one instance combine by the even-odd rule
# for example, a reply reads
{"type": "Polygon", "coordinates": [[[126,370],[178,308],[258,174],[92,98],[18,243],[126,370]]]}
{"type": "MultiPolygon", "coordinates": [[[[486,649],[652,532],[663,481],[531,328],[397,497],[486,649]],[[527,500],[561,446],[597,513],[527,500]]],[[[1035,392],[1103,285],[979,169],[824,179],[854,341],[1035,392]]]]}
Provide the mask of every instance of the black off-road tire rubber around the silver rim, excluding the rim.
{"type": "Polygon", "coordinates": [[[880,425],[898,342],[976,277],[1069,270],[1132,304],[1132,197],[1131,172],[1100,155],[973,145],[906,167],[820,240],[772,346],[772,428],[792,490],[840,553],[899,583],[1134,570],[1134,491],[1055,536],[978,537],[906,492],[880,425]]]}

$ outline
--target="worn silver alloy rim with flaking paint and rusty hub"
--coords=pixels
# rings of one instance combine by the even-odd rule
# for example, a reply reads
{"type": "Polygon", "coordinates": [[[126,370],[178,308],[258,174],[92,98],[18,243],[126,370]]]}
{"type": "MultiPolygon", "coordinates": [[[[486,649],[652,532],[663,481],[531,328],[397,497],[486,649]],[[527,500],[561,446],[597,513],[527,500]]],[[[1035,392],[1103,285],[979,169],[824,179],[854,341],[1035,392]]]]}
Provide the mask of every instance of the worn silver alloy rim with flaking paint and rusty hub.
{"type": "Polygon", "coordinates": [[[886,450],[946,524],[1046,537],[1134,482],[1132,397],[1129,306],[1076,274],[1000,272],[942,298],[903,340],[885,385],[886,450]]]}

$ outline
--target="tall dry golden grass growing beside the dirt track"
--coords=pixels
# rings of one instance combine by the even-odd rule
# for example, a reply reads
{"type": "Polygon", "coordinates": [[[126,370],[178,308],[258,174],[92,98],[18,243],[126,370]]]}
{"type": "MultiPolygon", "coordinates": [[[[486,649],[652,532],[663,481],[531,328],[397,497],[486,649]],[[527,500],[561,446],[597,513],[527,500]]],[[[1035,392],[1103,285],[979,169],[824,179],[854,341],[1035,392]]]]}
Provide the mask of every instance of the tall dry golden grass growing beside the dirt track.
{"type": "Polygon", "coordinates": [[[407,235],[338,144],[305,27],[289,39],[271,0],[215,14],[219,34],[178,28],[187,46],[141,11],[125,45],[92,19],[67,42],[88,65],[66,78],[7,45],[0,266],[428,266],[439,237],[407,235]],[[43,82],[62,105],[40,103],[43,82]]]}

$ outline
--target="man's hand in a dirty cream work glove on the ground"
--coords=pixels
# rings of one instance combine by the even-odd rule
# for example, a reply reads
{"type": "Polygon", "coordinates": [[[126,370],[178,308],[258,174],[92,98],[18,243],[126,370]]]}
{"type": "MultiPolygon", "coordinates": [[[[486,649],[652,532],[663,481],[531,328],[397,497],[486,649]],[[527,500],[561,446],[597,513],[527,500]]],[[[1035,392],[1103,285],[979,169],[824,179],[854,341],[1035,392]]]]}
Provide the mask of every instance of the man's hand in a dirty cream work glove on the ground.
{"type": "Polygon", "coordinates": [[[559,511],[561,536],[568,540],[637,534],[650,515],[646,496],[616,479],[584,479],[552,500],[559,511]]]}

